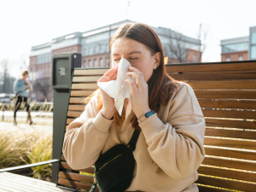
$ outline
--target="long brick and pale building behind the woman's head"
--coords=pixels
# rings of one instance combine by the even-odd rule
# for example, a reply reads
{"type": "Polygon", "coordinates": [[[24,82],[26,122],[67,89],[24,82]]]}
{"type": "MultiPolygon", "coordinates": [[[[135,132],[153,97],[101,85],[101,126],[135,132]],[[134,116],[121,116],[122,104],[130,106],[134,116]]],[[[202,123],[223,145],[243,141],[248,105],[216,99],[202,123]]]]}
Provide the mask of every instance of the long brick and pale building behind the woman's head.
{"type": "MultiPolygon", "coordinates": [[[[54,38],[47,44],[33,46],[30,55],[29,69],[30,81],[34,90],[30,94],[32,99],[44,101],[52,100],[50,88],[51,56],[60,53],[80,53],[82,55],[82,67],[109,67],[109,41],[119,26],[127,21],[123,20],[108,26],[102,26],[87,32],[73,32],[65,36],[54,38]]],[[[165,56],[169,62],[178,62],[177,56],[170,49],[170,41],[177,45],[177,39],[173,38],[171,29],[153,27],[163,44],[165,56]]],[[[182,36],[184,62],[201,61],[201,41],[195,38],[182,36]]]]}

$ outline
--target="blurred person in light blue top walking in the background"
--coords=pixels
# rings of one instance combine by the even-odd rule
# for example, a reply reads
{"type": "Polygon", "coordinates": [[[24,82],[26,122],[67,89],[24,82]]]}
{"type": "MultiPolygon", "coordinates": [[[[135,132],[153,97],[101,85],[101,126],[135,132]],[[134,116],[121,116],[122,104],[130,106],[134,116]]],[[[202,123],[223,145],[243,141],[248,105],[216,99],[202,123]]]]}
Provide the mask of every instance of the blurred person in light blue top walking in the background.
{"type": "Polygon", "coordinates": [[[16,113],[20,109],[20,104],[22,102],[25,103],[25,108],[27,112],[26,121],[29,121],[29,124],[32,125],[32,118],[30,113],[29,100],[27,99],[28,92],[33,90],[32,84],[30,84],[26,79],[29,76],[28,70],[23,70],[21,72],[21,78],[16,79],[13,85],[14,93],[15,93],[15,108],[14,108],[14,125],[17,125],[16,122],[16,113]]]}

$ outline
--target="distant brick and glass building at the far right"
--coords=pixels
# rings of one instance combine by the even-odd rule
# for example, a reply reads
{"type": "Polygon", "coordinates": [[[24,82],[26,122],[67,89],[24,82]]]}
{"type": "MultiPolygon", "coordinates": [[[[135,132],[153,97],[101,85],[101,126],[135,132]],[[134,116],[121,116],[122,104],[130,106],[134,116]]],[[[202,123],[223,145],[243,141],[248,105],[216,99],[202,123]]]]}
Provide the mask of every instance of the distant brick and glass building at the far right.
{"type": "Polygon", "coordinates": [[[256,60],[256,26],[249,28],[249,36],[220,41],[221,61],[256,60]]]}

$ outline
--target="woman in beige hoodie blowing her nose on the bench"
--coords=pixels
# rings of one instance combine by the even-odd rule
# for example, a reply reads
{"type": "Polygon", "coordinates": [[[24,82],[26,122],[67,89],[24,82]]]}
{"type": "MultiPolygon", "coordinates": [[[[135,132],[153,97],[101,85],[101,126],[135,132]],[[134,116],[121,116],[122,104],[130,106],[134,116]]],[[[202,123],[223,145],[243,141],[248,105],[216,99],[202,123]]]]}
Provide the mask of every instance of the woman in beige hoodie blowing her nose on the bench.
{"type": "Polygon", "coordinates": [[[67,128],[67,163],[73,169],[92,166],[100,154],[129,143],[134,129],[140,129],[133,152],[137,166],[127,191],[198,191],[194,182],[205,156],[205,119],[194,91],[168,76],[160,38],[151,27],[126,23],[113,34],[110,47],[112,69],[99,81],[116,79],[119,60],[125,58],[131,63],[127,74],[135,79],[125,80],[131,100],[125,100],[119,117],[113,98],[97,90],[67,128]],[[146,119],[151,110],[156,113],[146,119]]]}

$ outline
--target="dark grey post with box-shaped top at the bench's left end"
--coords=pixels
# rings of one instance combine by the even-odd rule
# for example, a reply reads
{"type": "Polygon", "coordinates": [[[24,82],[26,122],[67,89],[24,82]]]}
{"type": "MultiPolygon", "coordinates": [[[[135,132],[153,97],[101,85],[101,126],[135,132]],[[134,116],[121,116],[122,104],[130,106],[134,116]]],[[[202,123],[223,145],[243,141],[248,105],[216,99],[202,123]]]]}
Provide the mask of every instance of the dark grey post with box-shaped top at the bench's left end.
{"type": "MultiPolygon", "coordinates": [[[[67,121],[67,108],[72,86],[73,69],[81,67],[82,56],[78,53],[58,54],[52,57],[52,79],[53,88],[53,151],[52,159],[61,160],[61,150],[64,138],[64,130],[67,121]]],[[[60,163],[52,165],[52,182],[58,182],[60,163]]]]}

